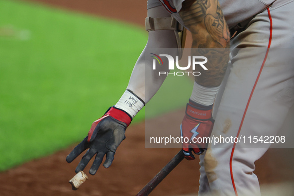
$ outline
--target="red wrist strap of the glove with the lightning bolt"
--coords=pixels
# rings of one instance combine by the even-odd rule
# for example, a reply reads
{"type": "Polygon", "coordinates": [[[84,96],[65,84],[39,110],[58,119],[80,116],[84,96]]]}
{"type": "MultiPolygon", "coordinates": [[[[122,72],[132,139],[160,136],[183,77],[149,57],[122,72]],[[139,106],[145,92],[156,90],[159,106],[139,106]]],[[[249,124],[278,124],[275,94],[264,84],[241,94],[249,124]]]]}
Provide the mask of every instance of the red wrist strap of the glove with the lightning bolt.
{"type": "Polygon", "coordinates": [[[204,106],[189,100],[186,107],[186,115],[194,119],[208,120],[212,118],[212,105],[204,106]]]}

